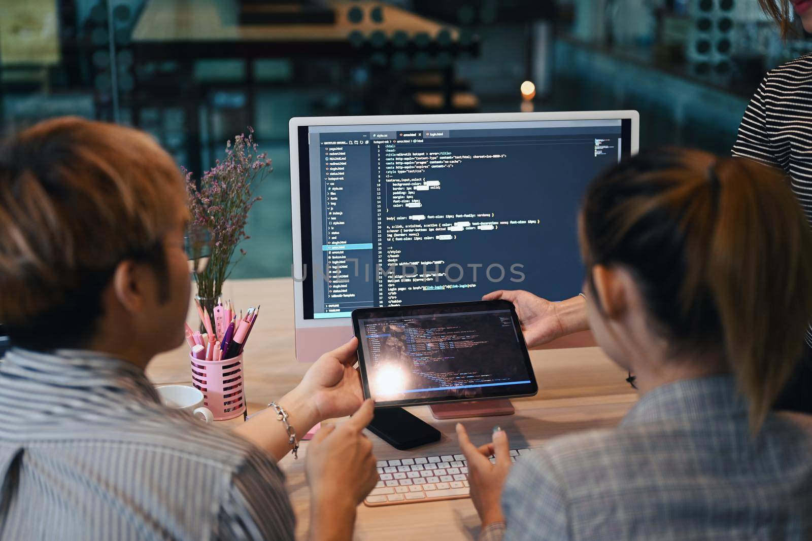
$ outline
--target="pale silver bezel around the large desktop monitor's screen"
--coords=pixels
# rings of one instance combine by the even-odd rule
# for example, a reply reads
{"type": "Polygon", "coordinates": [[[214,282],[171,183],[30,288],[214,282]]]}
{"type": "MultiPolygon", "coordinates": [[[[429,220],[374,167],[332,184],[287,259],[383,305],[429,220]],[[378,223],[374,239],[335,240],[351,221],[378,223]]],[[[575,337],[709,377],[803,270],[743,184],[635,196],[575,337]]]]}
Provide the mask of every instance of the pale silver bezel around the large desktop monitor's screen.
{"type": "MultiPolygon", "coordinates": [[[[545,120],[629,120],[631,122],[631,136],[629,141],[629,154],[634,155],[639,150],[640,140],[640,114],[636,110],[603,110],[603,111],[557,111],[542,113],[473,113],[473,114],[398,114],[398,115],[365,115],[348,117],[294,117],[288,124],[288,135],[291,153],[291,219],[293,263],[291,276],[293,278],[293,309],[294,324],[296,328],[335,328],[352,327],[352,318],[325,318],[305,319],[304,314],[304,281],[301,279],[302,264],[304,261],[303,238],[306,234],[307,249],[310,247],[310,224],[302,224],[302,194],[309,195],[309,178],[301,182],[300,140],[299,128],[311,126],[353,126],[359,124],[426,124],[446,122],[538,122],[545,120]]],[[[305,151],[307,149],[305,148],[305,151]]],[[[306,155],[305,155],[306,156],[306,155]]],[[[307,202],[309,204],[309,200],[307,202]]],[[[312,269],[311,269],[312,270],[312,269]]],[[[313,292],[309,292],[312,300],[313,292]]]]}

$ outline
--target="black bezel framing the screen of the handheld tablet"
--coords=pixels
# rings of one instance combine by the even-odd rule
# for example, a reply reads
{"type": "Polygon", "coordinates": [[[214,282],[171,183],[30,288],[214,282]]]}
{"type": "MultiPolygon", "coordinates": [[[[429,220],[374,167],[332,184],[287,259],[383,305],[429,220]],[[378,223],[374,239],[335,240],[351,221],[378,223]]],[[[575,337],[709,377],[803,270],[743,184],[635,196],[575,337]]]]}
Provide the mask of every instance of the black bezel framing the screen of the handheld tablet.
{"type": "MultiPolygon", "coordinates": [[[[430,398],[409,398],[405,400],[388,400],[388,401],[375,401],[376,408],[384,407],[403,407],[403,406],[423,406],[426,404],[443,404],[447,402],[465,402],[465,401],[478,401],[489,400],[494,398],[520,398],[520,397],[533,397],[538,393],[538,381],[536,380],[535,372],[533,371],[533,363],[530,360],[530,354],[527,350],[525,343],[525,335],[521,332],[521,325],[519,323],[519,316],[516,314],[516,307],[503,299],[492,301],[469,301],[466,303],[438,303],[438,304],[413,304],[411,306],[401,307],[372,307],[372,308],[356,308],[352,311],[352,330],[358,339],[358,370],[361,372],[361,386],[364,389],[364,397],[371,397],[369,391],[369,377],[366,372],[366,359],[364,357],[364,345],[361,343],[361,320],[367,319],[370,316],[378,317],[408,317],[408,316],[435,316],[438,314],[467,314],[473,311],[498,311],[509,310],[513,327],[516,330],[516,337],[519,339],[519,350],[522,361],[525,364],[530,383],[512,386],[512,389],[505,391],[503,387],[486,387],[484,388],[482,396],[477,397],[452,397],[446,395],[443,397],[430,397],[430,398]],[[503,391],[503,392],[499,392],[503,391]]],[[[481,388],[483,389],[483,388],[481,388]]]]}

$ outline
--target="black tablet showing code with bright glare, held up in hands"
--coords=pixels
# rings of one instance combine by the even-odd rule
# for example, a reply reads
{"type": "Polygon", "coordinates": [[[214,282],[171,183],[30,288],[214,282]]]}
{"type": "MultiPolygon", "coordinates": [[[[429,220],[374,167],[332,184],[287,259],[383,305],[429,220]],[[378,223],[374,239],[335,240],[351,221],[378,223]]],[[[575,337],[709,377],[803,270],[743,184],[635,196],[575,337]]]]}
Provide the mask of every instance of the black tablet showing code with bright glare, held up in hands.
{"type": "Polygon", "coordinates": [[[421,304],[352,311],[364,395],[415,406],[538,392],[512,303],[421,304]]]}

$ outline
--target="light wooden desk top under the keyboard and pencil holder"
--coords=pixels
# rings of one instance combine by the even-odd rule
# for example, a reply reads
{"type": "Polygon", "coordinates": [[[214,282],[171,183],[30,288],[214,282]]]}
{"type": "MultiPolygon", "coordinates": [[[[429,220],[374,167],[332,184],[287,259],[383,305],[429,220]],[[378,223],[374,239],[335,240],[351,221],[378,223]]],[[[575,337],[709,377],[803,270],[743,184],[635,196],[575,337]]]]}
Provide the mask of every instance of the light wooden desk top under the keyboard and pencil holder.
{"type": "MultiPolygon", "coordinates": [[[[248,411],[264,408],[299,382],[309,364],[296,362],[293,333],[293,282],[289,278],[238,280],[228,282],[224,298],[235,307],[261,304],[257,330],[245,350],[245,380],[248,411]]],[[[189,321],[196,319],[189,311],[189,321]]],[[[540,386],[536,397],[514,400],[516,414],[506,417],[464,419],[477,444],[490,438],[495,424],[503,427],[511,446],[538,447],[544,440],[568,432],[613,427],[628,411],[637,393],[624,381],[625,373],[611,363],[598,348],[543,350],[533,352],[533,368],[540,386]]],[[[188,350],[180,347],[158,356],[147,368],[156,384],[191,384],[188,350]]],[[[455,420],[438,421],[428,406],[409,410],[443,432],[437,444],[412,452],[398,451],[369,434],[378,458],[401,458],[426,454],[459,453],[454,432],[455,420]]],[[[240,419],[224,423],[240,423],[240,419]]],[[[298,522],[297,536],[304,539],[309,522],[309,491],[304,480],[302,445],[300,460],[290,455],[279,465],[287,474],[287,486],[298,522]]],[[[471,500],[448,500],[391,507],[361,505],[356,522],[356,539],[476,539],[477,513],[471,500]]]]}

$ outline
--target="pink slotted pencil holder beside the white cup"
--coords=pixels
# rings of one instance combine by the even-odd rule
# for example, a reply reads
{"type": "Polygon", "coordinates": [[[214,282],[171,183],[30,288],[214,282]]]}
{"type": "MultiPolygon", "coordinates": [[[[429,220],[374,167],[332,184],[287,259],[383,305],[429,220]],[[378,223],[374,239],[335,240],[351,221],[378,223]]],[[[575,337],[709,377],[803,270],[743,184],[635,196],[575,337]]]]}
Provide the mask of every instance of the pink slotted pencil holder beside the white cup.
{"type": "Polygon", "coordinates": [[[245,411],[243,354],[224,361],[201,361],[189,355],[192,385],[203,392],[203,404],[215,421],[233,419],[245,411]]]}

